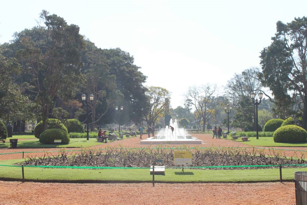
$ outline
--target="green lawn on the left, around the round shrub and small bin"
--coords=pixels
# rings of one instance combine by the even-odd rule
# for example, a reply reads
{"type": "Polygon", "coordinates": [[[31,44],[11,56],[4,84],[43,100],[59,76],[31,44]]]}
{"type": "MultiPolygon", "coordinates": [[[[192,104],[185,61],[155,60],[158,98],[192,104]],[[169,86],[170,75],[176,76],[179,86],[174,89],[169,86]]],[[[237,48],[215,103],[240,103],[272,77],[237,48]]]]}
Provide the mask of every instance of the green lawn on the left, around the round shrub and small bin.
{"type": "MultiPolygon", "coordinates": [[[[0,148],[10,148],[10,140],[12,138],[7,138],[5,143],[0,143],[0,148]]],[[[16,138],[15,138],[16,139],[16,138]]],[[[108,142],[109,143],[109,142],[108,142]]],[[[97,142],[96,138],[74,138],[70,139],[69,144],[41,144],[39,143],[39,139],[29,139],[29,140],[18,140],[17,148],[55,148],[55,147],[67,147],[67,148],[78,148],[78,147],[90,147],[97,144],[101,144],[101,142],[97,142]]]]}

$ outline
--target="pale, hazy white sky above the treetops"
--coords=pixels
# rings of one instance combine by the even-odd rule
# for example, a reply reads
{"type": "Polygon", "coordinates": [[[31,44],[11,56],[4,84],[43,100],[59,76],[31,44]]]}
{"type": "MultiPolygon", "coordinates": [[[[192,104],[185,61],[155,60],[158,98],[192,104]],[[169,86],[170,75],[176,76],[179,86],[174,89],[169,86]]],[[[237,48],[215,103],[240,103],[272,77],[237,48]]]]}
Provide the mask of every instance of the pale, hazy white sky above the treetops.
{"type": "MultiPolygon", "coordinates": [[[[0,43],[39,23],[41,10],[80,27],[102,49],[130,53],[146,86],[169,90],[173,108],[189,86],[223,86],[261,67],[276,22],[307,16],[307,0],[0,0],[0,43]]],[[[42,24],[42,22],[41,22],[42,24]]]]}

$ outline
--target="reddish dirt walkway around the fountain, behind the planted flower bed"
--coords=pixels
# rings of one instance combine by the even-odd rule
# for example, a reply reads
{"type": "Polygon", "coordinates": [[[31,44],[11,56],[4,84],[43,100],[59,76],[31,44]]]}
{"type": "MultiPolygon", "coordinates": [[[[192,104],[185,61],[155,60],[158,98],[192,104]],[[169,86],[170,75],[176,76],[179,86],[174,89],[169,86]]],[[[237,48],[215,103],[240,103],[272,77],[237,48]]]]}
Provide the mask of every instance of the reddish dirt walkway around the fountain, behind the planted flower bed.
{"type": "MultiPolygon", "coordinates": [[[[145,136],[145,135],[144,135],[145,136]]],[[[212,139],[212,135],[210,134],[193,134],[193,136],[197,137],[200,140],[203,140],[203,144],[195,145],[195,144],[187,144],[189,147],[251,147],[247,144],[242,144],[240,142],[235,142],[232,140],[224,140],[224,139],[212,139]]],[[[92,146],[90,148],[106,148],[106,147],[126,147],[126,148],[141,148],[141,147],[155,147],[156,145],[141,145],[140,144],[141,139],[139,137],[133,137],[129,139],[119,140],[115,142],[109,142],[109,143],[101,143],[95,146],[92,146]]],[[[182,145],[163,145],[163,147],[180,147],[182,145]]],[[[296,150],[306,150],[307,147],[276,147],[278,149],[296,149],[296,150]]],[[[66,148],[66,150],[79,150],[80,148],[66,148]]],[[[36,152],[36,151],[53,151],[53,150],[60,150],[60,148],[1,148],[0,153],[8,153],[8,152],[36,152]]],[[[279,151],[282,154],[285,154],[286,156],[294,156],[294,151],[287,150],[287,151],[279,151]]],[[[304,151],[305,152],[305,151],[304,151]]],[[[297,151],[296,154],[298,157],[301,157],[301,155],[304,153],[302,151],[297,151]]],[[[71,152],[70,152],[71,153],[71,152]]],[[[69,154],[70,154],[69,153],[69,154]]],[[[266,153],[267,150],[266,150],[266,153]]],[[[56,154],[56,152],[54,153],[56,154]]],[[[305,154],[307,154],[305,152],[305,154]]],[[[44,156],[44,152],[37,152],[37,153],[25,153],[25,157],[27,156],[44,156]]],[[[10,159],[21,159],[22,154],[7,154],[7,155],[0,155],[0,160],[10,160],[10,159]]]]}

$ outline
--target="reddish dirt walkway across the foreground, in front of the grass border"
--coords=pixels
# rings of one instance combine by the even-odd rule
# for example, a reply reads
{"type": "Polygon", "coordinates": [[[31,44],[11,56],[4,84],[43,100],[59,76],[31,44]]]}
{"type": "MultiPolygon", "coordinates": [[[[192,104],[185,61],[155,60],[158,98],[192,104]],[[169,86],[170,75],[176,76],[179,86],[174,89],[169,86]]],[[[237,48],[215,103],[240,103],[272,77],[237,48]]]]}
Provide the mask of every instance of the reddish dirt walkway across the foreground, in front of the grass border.
{"type": "Polygon", "coordinates": [[[294,183],[35,183],[0,181],[0,204],[295,204],[294,183]],[[234,191],[235,190],[235,191],[234,191]]]}

